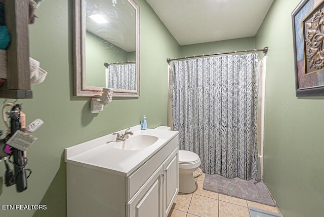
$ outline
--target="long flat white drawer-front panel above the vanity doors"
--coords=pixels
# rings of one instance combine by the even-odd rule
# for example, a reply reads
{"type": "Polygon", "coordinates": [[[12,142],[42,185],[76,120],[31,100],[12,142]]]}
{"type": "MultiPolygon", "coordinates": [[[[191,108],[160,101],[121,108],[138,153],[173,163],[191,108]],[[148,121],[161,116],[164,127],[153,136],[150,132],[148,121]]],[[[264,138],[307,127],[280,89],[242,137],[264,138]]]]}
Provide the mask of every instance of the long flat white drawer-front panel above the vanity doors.
{"type": "Polygon", "coordinates": [[[154,154],[149,160],[127,177],[128,191],[126,199],[129,201],[135,193],[143,186],[153,172],[167,159],[167,157],[179,146],[178,135],[174,137],[165,147],[154,154]]]}

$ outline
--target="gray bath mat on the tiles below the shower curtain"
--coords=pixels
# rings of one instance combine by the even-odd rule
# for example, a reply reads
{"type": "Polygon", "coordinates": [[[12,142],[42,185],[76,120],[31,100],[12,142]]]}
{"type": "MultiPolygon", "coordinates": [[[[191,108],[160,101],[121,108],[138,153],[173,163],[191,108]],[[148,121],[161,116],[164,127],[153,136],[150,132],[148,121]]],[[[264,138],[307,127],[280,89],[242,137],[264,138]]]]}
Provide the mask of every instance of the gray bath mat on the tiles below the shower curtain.
{"type": "Polygon", "coordinates": [[[244,180],[240,178],[225,178],[218,174],[206,174],[203,189],[269,206],[275,206],[262,180],[257,182],[254,179],[244,180]]]}

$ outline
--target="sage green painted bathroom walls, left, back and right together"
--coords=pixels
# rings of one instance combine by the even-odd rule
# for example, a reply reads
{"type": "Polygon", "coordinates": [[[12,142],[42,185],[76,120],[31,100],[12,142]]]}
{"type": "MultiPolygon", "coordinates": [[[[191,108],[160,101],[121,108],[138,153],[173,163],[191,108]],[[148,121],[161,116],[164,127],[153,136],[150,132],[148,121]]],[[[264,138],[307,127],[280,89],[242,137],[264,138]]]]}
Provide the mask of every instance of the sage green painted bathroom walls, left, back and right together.
{"type": "MultiPolygon", "coordinates": [[[[73,96],[71,1],[45,1],[30,30],[30,56],[48,71],[23,102],[27,123],[45,124],[28,150],[28,189],[17,193],[0,177],[0,204],[46,204],[47,210],[0,210],[1,216],[65,216],[64,149],[139,123],[167,124],[166,58],[269,47],[266,81],[264,182],[284,216],[324,213],[324,97],[295,96],[291,13],[300,0],[275,0],[255,38],[180,46],[145,0],[141,11],[141,96],[114,98],[99,114],[89,98],[73,96]]],[[[260,54],[262,56],[262,54],[260,54]]],[[[1,129],[5,129],[1,124],[1,129]]],[[[3,164],[2,164],[3,165],[3,164]]],[[[5,167],[0,166],[0,175],[5,167]]]]}

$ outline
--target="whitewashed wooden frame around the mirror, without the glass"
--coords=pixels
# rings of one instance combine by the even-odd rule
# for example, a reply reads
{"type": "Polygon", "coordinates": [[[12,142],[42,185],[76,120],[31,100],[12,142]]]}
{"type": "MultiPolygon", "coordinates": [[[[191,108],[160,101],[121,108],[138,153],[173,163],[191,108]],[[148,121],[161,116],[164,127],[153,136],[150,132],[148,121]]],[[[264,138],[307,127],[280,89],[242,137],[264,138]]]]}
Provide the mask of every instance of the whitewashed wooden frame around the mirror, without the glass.
{"type": "MultiPolygon", "coordinates": [[[[107,0],[109,1],[109,0],[107,0]]],[[[127,2],[136,11],[136,89],[113,89],[113,97],[140,96],[140,8],[134,0],[127,2]]],[[[98,97],[102,88],[87,85],[86,73],[86,0],[73,0],[73,74],[74,96],[98,97]]],[[[103,65],[103,63],[102,63],[103,65]]],[[[104,73],[104,72],[103,72],[104,73]]]]}

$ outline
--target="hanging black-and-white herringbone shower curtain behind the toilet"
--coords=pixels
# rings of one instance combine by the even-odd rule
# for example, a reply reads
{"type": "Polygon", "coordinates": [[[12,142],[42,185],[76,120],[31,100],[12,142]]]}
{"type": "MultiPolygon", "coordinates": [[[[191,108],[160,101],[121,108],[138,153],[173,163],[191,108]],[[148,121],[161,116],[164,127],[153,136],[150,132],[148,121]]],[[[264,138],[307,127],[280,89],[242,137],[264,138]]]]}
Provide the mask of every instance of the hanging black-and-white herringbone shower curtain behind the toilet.
{"type": "Polygon", "coordinates": [[[179,149],[199,155],[209,174],[257,174],[256,53],[173,62],[172,118],[179,149]]]}

